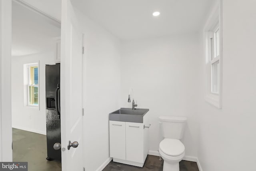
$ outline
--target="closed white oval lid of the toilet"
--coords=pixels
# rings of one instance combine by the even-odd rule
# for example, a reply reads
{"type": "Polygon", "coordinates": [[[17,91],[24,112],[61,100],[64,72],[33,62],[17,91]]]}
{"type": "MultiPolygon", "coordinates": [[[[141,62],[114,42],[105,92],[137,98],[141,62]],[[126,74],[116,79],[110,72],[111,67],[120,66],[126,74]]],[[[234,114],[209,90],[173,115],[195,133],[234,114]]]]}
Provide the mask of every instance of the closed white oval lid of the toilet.
{"type": "Polygon", "coordinates": [[[170,156],[178,156],[185,151],[184,145],[178,139],[166,138],[160,142],[159,147],[163,153],[170,156]]]}

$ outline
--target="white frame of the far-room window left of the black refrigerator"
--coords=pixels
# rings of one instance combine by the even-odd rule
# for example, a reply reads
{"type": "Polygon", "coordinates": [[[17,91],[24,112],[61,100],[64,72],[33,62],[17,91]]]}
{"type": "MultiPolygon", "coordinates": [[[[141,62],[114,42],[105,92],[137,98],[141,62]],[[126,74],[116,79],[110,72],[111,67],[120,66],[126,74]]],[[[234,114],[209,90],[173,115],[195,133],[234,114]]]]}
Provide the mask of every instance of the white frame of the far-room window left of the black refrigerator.
{"type": "Polygon", "coordinates": [[[40,94],[39,94],[39,62],[38,63],[32,63],[32,64],[26,64],[26,106],[28,107],[36,107],[39,108],[40,105],[40,94]],[[38,84],[30,84],[30,67],[37,67],[38,68],[38,84]],[[30,91],[29,87],[38,87],[38,104],[37,105],[32,105],[30,104],[30,91]]]}

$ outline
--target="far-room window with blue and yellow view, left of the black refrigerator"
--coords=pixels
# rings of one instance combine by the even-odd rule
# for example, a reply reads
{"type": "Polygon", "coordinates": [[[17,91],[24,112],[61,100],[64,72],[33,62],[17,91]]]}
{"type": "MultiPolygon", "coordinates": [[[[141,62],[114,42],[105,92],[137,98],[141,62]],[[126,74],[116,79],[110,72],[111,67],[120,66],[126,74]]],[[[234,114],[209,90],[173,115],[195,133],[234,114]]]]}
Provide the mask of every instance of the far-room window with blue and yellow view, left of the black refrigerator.
{"type": "Polygon", "coordinates": [[[38,107],[39,99],[39,75],[38,64],[26,64],[27,69],[27,105],[38,107]]]}

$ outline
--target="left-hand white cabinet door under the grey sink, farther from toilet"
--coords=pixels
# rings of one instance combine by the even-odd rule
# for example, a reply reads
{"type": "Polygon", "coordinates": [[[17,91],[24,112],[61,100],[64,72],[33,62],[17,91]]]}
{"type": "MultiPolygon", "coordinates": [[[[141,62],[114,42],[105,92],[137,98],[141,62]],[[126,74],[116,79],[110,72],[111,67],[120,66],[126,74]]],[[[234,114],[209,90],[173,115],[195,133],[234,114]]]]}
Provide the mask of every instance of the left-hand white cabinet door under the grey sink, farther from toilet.
{"type": "Polygon", "coordinates": [[[109,121],[110,157],[126,159],[125,122],[109,121]]]}

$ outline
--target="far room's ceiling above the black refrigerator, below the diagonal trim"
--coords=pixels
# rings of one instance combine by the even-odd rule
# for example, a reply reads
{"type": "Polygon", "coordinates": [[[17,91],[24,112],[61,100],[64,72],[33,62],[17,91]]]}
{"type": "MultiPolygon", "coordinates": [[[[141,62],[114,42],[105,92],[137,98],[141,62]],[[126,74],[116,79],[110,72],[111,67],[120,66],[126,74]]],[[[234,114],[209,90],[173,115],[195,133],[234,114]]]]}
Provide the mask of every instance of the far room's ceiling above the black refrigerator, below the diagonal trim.
{"type": "Polygon", "coordinates": [[[38,54],[54,48],[60,23],[18,1],[12,3],[12,56],[38,54]]]}

